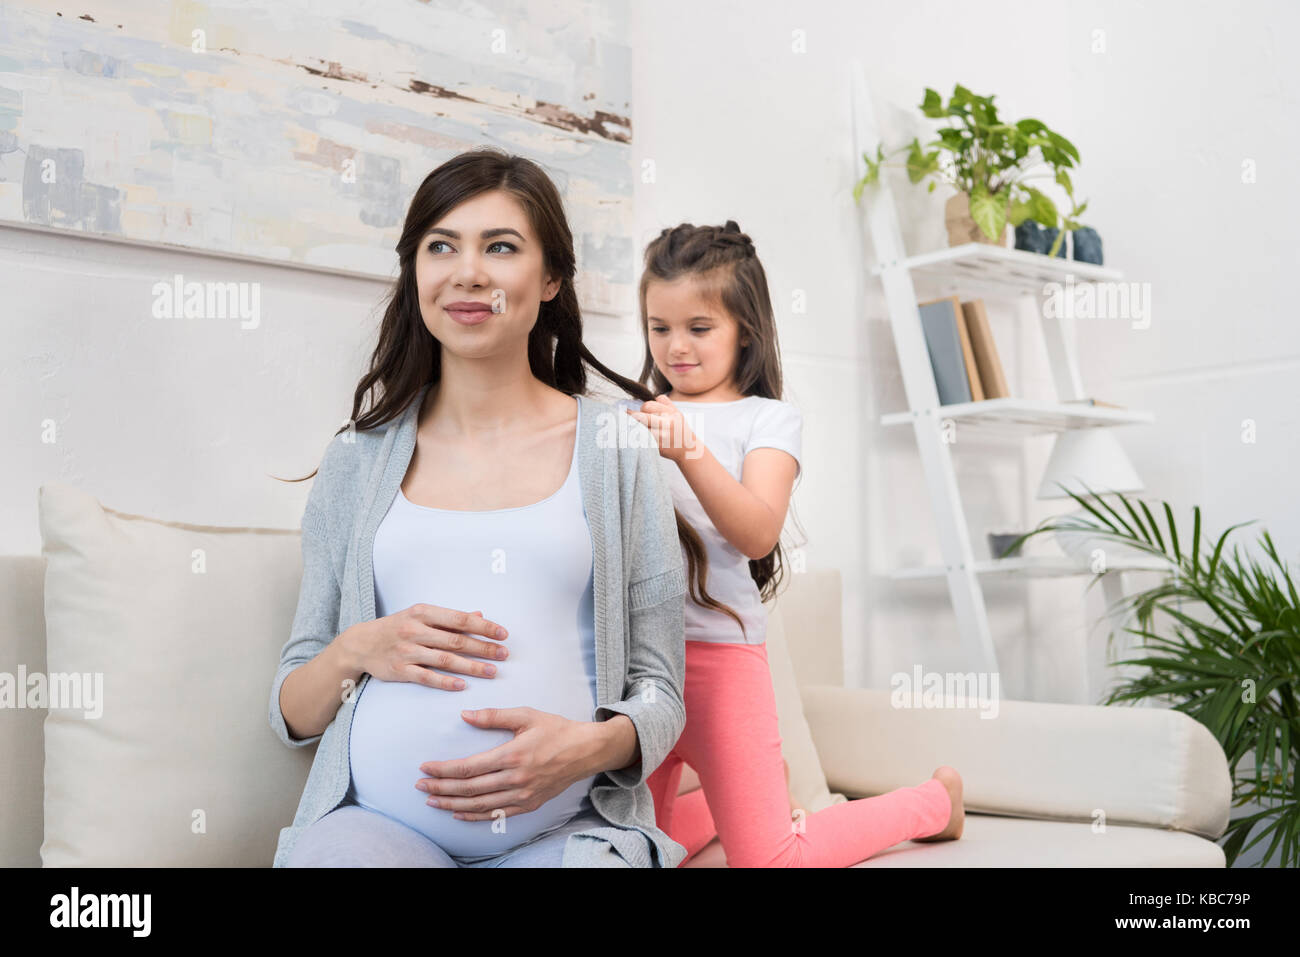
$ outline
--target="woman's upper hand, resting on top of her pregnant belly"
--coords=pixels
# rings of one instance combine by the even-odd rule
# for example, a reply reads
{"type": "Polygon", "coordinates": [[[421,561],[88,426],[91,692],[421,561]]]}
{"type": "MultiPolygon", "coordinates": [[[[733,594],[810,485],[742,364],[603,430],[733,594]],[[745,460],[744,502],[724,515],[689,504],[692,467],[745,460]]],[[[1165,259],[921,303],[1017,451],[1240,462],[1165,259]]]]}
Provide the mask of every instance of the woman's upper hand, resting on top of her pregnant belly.
{"type": "Polygon", "coordinates": [[[472,659],[500,661],[508,655],[500,645],[476,635],[500,641],[507,632],[478,611],[412,605],[373,622],[359,622],[342,637],[356,668],[381,681],[412,681],[455,692],[464,689],[464,680],[441,671],[491,677],[494,666],[472,659]]]}

